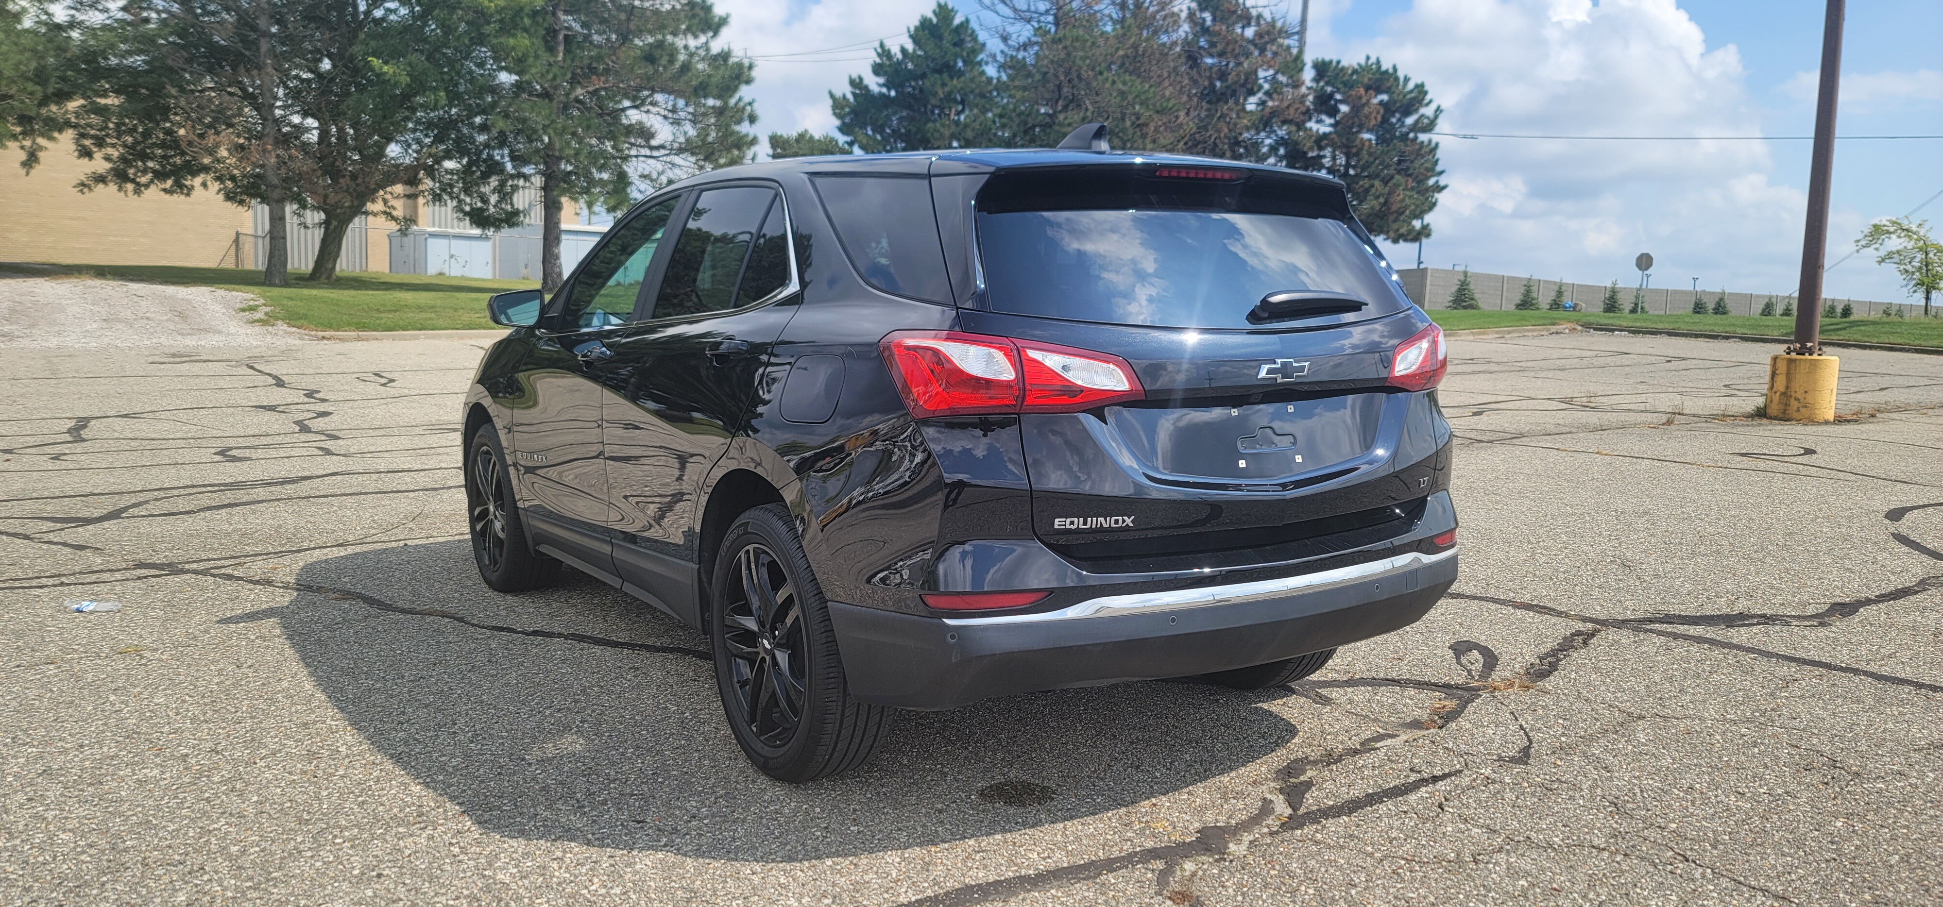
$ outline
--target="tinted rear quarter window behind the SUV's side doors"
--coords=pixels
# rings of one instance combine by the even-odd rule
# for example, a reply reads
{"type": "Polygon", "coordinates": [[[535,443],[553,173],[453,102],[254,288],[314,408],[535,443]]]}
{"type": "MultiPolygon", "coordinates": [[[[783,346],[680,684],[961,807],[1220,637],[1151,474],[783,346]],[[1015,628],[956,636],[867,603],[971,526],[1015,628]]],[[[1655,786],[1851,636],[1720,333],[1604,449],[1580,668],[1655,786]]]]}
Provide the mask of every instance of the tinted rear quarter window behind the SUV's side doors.
{"type": "Polygon", "coordinates": [[[816,177],[816,194],[837,225],[843,252],[872,287],[952,301],[929,179],[816,177]]]}

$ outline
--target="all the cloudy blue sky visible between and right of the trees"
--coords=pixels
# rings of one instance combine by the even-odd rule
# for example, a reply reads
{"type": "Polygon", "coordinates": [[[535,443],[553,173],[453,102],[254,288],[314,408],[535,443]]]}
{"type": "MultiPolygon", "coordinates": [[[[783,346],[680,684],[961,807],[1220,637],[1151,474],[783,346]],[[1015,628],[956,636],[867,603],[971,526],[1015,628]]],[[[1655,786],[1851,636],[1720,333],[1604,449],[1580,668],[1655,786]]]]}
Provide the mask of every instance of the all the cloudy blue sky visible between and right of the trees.
{"type": "MultiPolygon", "coordinates": [[[[931,0],[717,6],[729,41],[758,56],[750,97],[767,134],[830,130],[826,93],[869,74],[867,41],[902,33],[931,0]],[[781,56],[845,45],[861,50],[781,56]]],[[[958,6],[977,14],[975,0],[958,6]]],[[[1451,132],[1805,136],[1815,122],[1819,0],[1312,0],[1310,16],[1312,56],[1397,62],[1430,85],[1451,132]]],[[[1943,134],[1939,35],[1943,2],[1850,4],[1840,132],[1943,134]]],[[[1442,146],[1451,188],[1430,216],[1426,264],[1632,286],[1648,251],[1653,286],[1795,286],[1807,142],[1442,146]]],[[[1828,260],[1937,190],[1943,142],[1840,142],[1828,260]]],[[[1918,218],[1943,225],[1943,200],[1918,218]]],[[[1416,247],[1389,254],[1411,266],[1416,247]]],[[[1826,291],[1906,299],[1869,256],[1832,268],[1826,291]]]]}

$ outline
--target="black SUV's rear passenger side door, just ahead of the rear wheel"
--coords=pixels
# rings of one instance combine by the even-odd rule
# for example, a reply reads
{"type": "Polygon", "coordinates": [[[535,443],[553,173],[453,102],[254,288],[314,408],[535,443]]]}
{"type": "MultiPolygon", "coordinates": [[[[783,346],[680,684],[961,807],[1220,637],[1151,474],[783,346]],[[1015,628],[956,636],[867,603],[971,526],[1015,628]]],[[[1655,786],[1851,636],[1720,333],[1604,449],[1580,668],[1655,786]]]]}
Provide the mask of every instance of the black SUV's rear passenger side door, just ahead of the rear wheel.
{"type": "Polygon", "coordinates": [[[748,423],[762,363],[797,311],[789,223],[767,185],[707,188],[684,218],[641,320],[606,346],[606,476],[622,579],[676,616],[698,577],[696,497],[748,423]]]}

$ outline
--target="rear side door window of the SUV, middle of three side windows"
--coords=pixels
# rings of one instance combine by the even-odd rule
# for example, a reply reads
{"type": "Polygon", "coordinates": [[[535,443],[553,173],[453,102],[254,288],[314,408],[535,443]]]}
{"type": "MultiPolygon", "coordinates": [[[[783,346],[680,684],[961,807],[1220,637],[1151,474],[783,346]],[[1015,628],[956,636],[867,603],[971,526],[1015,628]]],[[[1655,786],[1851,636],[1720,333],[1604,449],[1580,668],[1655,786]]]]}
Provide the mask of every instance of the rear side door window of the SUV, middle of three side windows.
{"type": "Polygon", "coordinates": [[[771,206],[775,206],[773,188],[731,186],[701,192],[682,235],[674,241],[668,274],[661,278],[661,291],[649,317],[680,319],[760,299],[738,303],[734,289],[771,206]]]}

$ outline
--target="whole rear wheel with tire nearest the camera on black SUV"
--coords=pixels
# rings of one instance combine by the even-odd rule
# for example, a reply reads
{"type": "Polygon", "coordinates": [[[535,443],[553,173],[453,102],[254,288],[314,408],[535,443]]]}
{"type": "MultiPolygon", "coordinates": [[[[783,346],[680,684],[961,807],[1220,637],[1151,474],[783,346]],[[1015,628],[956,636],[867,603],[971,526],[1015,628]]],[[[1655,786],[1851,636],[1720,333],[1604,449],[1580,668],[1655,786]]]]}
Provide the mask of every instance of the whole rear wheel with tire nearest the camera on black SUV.
{"type": "Polygon", "coordinates": [[[764,775],[816,781],[863,765],[886,740],[890,709],[851,699],[830,608],[783,505],[729,526],[707,625],[729,730],[764,775]]]}

